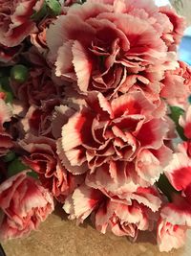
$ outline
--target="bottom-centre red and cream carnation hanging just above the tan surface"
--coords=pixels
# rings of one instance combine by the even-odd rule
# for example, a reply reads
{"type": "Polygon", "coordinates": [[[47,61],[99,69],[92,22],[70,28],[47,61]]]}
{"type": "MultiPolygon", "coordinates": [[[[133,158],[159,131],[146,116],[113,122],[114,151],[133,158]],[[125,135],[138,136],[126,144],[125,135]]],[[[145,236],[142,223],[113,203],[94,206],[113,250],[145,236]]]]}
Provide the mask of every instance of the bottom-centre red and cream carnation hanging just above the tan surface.
{"type": "Polygon", "coordinates": [[[63,209],[69,218],[78,222],[94,214],[96,229],[102,233],[111,230],[117,236],[130,236],[136,239],[138,230],[152,229],[152,212],[137,200],[105,198],[99,190],[81,185],[69,196],[63,209]],[[150,215],[150,216],[149,216],[150,215]]]}

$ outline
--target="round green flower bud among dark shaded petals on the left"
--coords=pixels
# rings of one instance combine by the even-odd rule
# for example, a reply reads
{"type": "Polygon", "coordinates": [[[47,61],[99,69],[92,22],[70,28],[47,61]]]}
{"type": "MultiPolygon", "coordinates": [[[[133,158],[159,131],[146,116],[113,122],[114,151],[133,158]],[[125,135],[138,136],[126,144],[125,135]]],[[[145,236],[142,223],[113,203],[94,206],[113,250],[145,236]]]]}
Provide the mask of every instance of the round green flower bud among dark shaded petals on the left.
{"type": "Polygon", "coordinates": [[[18,64],[11,68],[11,80],[18,83],[23,83],[28,80],[29,71],[24,65],[18,64]]]}

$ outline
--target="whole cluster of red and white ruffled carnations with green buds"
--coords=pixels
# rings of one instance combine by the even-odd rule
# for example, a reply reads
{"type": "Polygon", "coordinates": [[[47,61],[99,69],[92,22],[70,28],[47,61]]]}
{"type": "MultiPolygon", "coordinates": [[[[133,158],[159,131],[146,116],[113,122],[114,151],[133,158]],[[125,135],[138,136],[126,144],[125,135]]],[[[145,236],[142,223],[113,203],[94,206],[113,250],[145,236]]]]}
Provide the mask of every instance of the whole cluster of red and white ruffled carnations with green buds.
{"type": "Polygon", "coordinates": [[[191,227],[185,24],[152,0],[0,0],[0,238],[63,205],[101,233],[191,227]],[[85,2],[85,3],[83,3],[85,2]]]}

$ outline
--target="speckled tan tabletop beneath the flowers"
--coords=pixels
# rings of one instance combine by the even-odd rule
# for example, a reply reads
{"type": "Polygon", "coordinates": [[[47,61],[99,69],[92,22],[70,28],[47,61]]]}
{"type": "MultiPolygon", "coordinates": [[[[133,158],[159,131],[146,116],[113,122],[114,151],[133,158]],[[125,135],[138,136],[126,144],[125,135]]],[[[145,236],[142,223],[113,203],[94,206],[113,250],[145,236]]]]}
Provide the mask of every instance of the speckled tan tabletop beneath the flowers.
{"type": "Polygon", "coordinates": [[[3,246],[7,256],[191,256],[191,233],[183,248],[160,253],[152,234],[144,233],[132,244],[124,237],[102,235],[89,223],[76,226],[59,211],[28,238],[3,246]]]}

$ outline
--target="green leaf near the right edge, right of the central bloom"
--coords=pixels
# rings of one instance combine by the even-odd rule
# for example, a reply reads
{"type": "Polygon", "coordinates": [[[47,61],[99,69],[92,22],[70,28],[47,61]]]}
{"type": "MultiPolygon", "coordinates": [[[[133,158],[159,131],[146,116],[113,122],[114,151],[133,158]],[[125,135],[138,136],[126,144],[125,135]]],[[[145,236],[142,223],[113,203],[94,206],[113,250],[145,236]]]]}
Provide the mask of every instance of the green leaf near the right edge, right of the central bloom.
{"type": "Polygon", "coordinates": [[[180,138],[186,141],[187,138],[184,136],[183,128],[181,128],[179,124],[180,116],[184,114],[184,110],[179,106],[170,106],[170,110],[171,114],[169,115],[169,117],[175,122],[177,132],[179,133],[180,138]]]}

